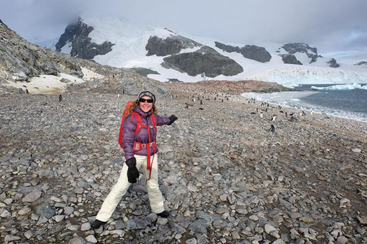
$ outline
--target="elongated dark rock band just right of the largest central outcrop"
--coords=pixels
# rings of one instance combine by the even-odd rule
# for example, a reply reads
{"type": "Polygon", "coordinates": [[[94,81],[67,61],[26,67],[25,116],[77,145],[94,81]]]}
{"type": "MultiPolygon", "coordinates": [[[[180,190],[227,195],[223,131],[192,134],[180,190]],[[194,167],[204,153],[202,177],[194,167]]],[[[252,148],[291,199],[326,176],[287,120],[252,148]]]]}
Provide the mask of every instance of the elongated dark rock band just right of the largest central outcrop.
{"type": "Polygon", "coordinates": [[[266,51],[264,47],[258,47],[255,45],[245,45],[244,47],[233,47],[231,45],[225,45],[223,43],[218,43],[216,47],[222,49],[224,52],[237,52],[242,54],[244,58],[249,58],[261,63],[266,63],[271,60],[271,54],[266,51]]]}

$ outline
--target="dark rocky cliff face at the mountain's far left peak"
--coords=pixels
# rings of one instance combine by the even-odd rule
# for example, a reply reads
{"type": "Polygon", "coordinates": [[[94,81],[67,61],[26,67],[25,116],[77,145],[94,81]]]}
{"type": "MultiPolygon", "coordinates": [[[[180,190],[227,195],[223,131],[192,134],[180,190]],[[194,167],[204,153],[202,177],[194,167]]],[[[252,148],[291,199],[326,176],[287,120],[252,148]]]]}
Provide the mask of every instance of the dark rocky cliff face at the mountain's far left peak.
{"type": "Polygon", "coordinates": [[[112,51],[113,43],[105,41],[102,44],[92,43],[92,38],[88,35],[94,28],[83,23],[83,19],[79,18],[78,25],[68,25],[65,32],[61,35],[59,42],[56,44],[56,51],[60,52],[61,48],[72,41],[72,51],[70,55],[73,57],[93,59],[96,55],[107,54],[112,51]]]}

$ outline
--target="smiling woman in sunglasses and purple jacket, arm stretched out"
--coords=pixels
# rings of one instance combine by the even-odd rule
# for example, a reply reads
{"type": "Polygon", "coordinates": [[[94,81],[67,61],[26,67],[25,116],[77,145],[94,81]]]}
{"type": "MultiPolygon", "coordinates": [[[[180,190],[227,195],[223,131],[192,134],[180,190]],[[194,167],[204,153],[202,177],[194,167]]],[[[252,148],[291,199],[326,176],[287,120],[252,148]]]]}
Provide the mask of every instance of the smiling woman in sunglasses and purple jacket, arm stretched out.
{"type": "Polygon", "coordinates": [[[156,115],[158,111],[155,102],[156,96],[151,91],[141,91],[138,94],[138,100],[132,102],[126,109],[128,115],[123,121],[122,133],[126,164],[123,164],[117,183],[103,201],[96,220],[91,224],[94,229],[107,223],[121,197],[125,195],[132,183],[136,183],[140,166],[143,167],[143,173],[147,179],[147,190],[152,212],[164,218],[169,216],[169,212],[164,208],[162,192],[158,188],[156,126],[171,125],[177,120],[177,117],[171,115],[166,118],[156,115]]]}

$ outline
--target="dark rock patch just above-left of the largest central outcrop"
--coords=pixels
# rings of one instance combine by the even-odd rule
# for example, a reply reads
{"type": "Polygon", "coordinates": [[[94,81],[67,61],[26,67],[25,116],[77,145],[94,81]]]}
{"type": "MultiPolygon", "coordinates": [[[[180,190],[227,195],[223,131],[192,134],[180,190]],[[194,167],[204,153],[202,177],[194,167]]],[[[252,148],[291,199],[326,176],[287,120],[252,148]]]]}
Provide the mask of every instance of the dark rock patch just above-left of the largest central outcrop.
{"type": "Polygon", "coordinates": [[[158,36],[151,36],[145,49],[148,51],[147,56],[167,56],[177,54],[181,49],[201,46],[200,43],[179,35],[171,35],[165,39],[159,38],[158,36]]]}

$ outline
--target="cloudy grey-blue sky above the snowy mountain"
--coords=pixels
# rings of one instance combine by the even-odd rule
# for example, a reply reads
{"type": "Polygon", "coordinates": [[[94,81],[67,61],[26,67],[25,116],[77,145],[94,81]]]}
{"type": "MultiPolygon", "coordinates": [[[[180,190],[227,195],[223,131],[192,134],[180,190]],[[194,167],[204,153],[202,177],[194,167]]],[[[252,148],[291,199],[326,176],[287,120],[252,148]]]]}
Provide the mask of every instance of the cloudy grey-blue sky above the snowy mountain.
{"type": "Polygon", "coordinates": [[[80,14],[120,14],[132,23],[227,43],[302,42],[367,61],[367,0],[0,0],[0,19],[32,43],[59,38],[80,14]],[[364,56],[364,58],[363,58],[364,56]]]}

